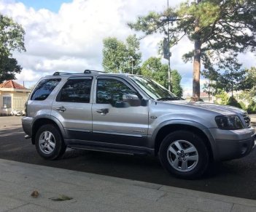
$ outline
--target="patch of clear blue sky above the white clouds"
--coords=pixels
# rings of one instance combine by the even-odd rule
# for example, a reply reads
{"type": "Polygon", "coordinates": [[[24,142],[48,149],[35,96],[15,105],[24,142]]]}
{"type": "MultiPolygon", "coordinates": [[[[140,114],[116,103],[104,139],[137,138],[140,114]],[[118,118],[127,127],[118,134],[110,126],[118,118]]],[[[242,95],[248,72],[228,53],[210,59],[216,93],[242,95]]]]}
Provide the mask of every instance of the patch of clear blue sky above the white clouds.
{"type": "Polygon", "coordinates": [[[33,7],[34,9],[49,9],[52,12],[58,12],[63,3],[69,3],[72,0],[16,0],[22,2],[26,7],[33,7]]]}

